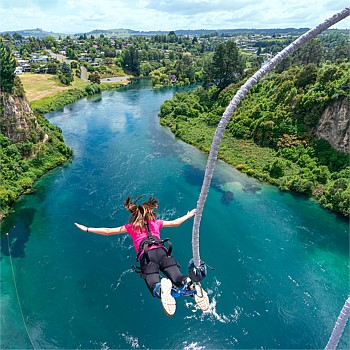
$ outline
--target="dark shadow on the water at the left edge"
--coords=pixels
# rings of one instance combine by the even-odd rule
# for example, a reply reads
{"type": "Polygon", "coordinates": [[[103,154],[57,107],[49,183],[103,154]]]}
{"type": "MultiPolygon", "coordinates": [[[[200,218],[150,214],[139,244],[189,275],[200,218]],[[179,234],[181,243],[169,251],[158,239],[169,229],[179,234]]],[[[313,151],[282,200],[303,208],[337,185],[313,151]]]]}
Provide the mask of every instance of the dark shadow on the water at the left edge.
{"type": "Polygon", "coordinates": [[[6,224],[2,227],[2,234],[0,240],[1,257],[3,255],[9,256],[8,237],[9,233],[11,256],[13,258],[24,258],[25,247],[31,234],[30,226],[34,220],[35,209],[25,208],[16,211],[13,219],[9,217],[6,224]]]}

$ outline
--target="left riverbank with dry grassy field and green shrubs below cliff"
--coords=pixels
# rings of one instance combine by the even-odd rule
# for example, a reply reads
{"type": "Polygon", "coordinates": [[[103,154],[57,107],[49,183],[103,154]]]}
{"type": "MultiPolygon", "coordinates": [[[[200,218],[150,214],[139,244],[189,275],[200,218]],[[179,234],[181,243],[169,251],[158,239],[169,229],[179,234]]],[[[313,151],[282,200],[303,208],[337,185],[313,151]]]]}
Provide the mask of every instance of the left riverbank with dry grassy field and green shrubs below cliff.
{"type": "Polygon", "coordinates": [[[73,150],[64,143],[62,131],[52,125],[43,114],[62,109],[95,92],[113,90],[130,83],[122,81],[90,84],[76,79],[73,87],[62,87],[53,76],[37,74],[23,75],[21,81],[30,107],[49,142],[35,143],[33,140],[27,140],[11,144],[3,136],[0,220],[11,212],[20,196],[33,191],[38,179],[66,163],[73,155],[73,150]],[[16,172],[12,169],[16,169],[16,172]]]}

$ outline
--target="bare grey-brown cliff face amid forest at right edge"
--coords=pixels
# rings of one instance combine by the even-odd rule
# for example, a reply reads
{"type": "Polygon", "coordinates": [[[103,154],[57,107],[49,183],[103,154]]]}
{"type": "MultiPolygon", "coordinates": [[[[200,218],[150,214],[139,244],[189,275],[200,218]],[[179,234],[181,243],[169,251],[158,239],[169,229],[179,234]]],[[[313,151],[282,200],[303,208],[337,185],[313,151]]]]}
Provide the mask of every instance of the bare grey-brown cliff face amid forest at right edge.
{"type": "Polygon", "coordinates": [[[337,151],[349,153],[350,108],[348,99],[339,100],[326,108],[316,127],[316,135],[327,140],[337,151]]]}

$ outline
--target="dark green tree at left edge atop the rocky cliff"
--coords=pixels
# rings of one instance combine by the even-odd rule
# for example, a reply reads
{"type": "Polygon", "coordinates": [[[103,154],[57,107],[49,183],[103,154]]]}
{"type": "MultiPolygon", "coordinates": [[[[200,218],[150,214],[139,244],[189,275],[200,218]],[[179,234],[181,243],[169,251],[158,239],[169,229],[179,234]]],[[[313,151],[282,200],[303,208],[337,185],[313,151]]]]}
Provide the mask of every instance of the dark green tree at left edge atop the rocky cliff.
{"type": "Polygon", "coordinates": [[[12,92],[16,61],[10,49],[0,42],[0,91],[12,92]]]}

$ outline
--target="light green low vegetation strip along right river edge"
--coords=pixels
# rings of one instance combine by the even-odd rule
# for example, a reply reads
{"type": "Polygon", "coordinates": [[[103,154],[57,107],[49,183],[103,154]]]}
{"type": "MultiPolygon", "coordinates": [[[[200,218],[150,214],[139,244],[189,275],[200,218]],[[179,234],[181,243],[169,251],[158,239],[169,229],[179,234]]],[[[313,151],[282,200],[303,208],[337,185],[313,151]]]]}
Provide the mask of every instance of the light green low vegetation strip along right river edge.
{"type": "MultiPolygon", "coordinates": [[[[209,126],[200,118],[183,118],[180,123],[176,123],[169,115],[160,113],[160,123],[163,126],[169,127],[179,139],[209,154],[214,126],[209,126]]],[[[289,161],[283,177],[273,177],[271,174],[275,174],[279,170],[278,165],[286,160],[272,148],[260,147],[251,140],[236,139],[228,132],[221,141],[218,159],[282,191],[303,194],[332,212],[349,216],[349,196],[345,190],[342,191],[346,188],[346,182],[341,178],[345,171],[339,173],[338,178],[334,175],[327,183],[319,183],[314,189],[311,181],[300,177],[305,169],[298,162],[289,161]]]]}

